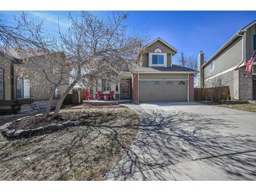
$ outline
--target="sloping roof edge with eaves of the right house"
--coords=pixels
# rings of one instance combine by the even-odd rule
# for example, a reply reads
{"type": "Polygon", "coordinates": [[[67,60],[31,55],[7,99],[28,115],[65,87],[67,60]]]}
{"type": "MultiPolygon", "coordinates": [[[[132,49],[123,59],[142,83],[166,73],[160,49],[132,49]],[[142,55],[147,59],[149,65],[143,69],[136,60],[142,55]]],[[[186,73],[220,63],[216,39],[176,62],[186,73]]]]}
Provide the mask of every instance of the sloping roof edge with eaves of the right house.
{"type": "Polygon", "coordinates": [[[214,53],[202,66],[205,67],[206,64],[209,64],[209,62],[211,62],[215,57],[217,57],[217,55],[220,55],[220,53],[222,53],[222,51],[224,49],[226,49],[228,46],[231,45],[231,43],[233,43],[234,41],[236,41],[236,39],[238,39],[239,37],[241,37],[242,34],[244,34],[248,28],[252,27],[252,25],[256,24],[256,20],[252,21],[250,24],[246,25],[245,27],[243,27],[242,29],[240,29],[238,32],[236,32],[236,34],[234,34],[234,36],[231,37],[231,39],[229,39],[229,41],[227,41],[226,43],[224,43],[224,45],[217,50],[216,53],[214,53]]]}

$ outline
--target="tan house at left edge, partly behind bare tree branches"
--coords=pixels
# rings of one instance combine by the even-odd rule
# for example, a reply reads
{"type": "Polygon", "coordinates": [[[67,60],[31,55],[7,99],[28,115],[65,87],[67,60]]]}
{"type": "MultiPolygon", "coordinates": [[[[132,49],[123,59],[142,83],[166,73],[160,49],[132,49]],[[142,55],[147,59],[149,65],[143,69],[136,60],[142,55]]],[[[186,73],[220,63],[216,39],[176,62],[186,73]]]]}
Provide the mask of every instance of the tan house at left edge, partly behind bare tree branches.
{"type": "MultiPolygon", "coordinates": [[[[0,114],[46,108],[50,86],[41,69],[48,70],[49,67],[42,55],[36,57],[36,61],[36,65],[24,63],[18,55],[6,57],[5,53],[0,52],[0,114]],[[39,64],[43,68],[39,68],[39,64]]],[[[55,91],[55,99],[64,90],[65,85],[60,86],[55,91]]],[[[53,105],[56,101],[53,100],[53,105]]]]}

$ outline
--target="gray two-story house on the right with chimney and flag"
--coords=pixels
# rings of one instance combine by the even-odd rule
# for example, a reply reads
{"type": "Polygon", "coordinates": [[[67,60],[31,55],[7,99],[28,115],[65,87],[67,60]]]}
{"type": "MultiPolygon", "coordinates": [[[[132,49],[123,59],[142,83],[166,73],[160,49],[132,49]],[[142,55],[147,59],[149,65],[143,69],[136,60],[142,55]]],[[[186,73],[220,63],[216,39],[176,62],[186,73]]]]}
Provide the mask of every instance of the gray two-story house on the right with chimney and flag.
{"type": "Polygon", "coordinates": [[[239,30],[204,62],[198,54],[199,88],[229,86],[231,100],[256,100],[256,61],[245,74],[246,62],[256,51],[256,20],[239,30]]]}

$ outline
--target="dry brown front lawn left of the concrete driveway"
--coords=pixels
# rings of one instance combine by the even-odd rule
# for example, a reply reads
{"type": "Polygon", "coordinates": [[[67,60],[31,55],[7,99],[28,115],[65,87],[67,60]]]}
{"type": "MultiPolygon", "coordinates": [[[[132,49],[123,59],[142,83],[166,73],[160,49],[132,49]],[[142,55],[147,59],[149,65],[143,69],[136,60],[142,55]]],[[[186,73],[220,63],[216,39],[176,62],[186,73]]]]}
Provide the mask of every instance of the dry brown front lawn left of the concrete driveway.
{"type": "Polygon", "coordinates": [[[97,116],[95,125],[29,138],[0,135],[0,180],[102,180],[135,139],[139,120],[125,107],[79,106],[62,109],[97,116]]]}

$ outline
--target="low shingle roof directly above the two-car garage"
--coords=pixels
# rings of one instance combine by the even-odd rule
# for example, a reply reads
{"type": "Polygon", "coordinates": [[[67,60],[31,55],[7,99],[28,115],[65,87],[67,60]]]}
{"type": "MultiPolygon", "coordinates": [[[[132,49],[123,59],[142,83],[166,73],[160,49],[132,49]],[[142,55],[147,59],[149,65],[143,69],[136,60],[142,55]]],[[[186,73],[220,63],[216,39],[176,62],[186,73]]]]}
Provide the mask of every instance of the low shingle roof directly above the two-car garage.
{"type": "Polygon", "coordinates": [[[194,69],[188,67],[182,67],[180,65],[173,64],[172,67],[136,67],[134,69],[136,72],[188,72],[196,73],[194,69]]]}

